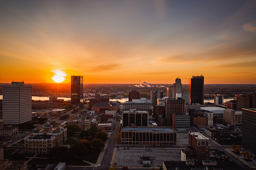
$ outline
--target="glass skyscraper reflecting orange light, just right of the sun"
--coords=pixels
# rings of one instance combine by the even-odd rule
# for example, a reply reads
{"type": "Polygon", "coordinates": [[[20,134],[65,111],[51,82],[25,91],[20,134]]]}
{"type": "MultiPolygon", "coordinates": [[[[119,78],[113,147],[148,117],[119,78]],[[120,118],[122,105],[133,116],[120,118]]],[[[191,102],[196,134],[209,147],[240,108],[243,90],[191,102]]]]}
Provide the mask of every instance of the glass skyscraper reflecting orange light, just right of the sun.
{"type": "Polygon", "coordinates": [[[84,99],[84,76],[71,76],[71,103],[80,104],[84,99]]]}

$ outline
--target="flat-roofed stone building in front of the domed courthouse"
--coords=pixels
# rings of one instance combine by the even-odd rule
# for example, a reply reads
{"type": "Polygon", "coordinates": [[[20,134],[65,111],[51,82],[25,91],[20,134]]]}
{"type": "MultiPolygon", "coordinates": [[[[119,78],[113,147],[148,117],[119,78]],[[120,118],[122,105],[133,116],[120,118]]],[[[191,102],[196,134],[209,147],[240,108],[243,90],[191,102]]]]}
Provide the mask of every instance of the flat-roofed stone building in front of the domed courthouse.
{"type": "Polygon", "coordinates": [[[40,134],[24,139],[24,152],[47,154],[56,146],[56,137],[54,135],[40,134]]]}

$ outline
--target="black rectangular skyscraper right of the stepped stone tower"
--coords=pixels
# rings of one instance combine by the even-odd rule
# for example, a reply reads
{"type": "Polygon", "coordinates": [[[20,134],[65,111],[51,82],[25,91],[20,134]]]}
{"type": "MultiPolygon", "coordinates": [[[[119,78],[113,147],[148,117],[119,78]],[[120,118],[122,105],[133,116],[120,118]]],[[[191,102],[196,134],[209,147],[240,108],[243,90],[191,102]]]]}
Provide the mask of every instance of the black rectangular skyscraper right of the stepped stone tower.
{"type": "Polygon", "coordinates": [[[192,76],[189,79],[190,103],[203,104],[204,77],[192,76]]]}

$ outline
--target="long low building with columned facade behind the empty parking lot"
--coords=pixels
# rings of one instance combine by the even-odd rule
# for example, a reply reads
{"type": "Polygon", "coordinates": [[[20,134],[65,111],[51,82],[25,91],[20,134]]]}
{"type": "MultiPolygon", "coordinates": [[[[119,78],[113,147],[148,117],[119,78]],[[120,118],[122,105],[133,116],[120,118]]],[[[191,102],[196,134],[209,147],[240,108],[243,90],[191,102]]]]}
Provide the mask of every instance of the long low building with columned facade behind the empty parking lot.
{"type": "Polygon", "coordinates": [[[172,127],[123,127],[121,144],[176,145],[176,130],[172,127]]]}

